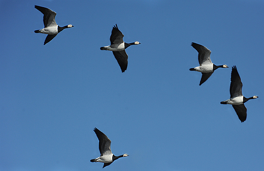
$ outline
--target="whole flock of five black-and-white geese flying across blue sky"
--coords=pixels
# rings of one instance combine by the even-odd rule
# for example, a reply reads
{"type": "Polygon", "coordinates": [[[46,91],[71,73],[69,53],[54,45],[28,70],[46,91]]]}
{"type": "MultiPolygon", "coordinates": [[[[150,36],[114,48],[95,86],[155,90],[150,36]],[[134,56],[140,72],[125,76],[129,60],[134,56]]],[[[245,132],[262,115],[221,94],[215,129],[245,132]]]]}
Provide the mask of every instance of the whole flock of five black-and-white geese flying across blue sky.
{"type": "MultiPolygon", "coordinates": [[[[60,31],[62,31],[65,28],[71,28],[74,27],[72,24],[60,27],[57,25],[55,21],[56,13],[48,8],[35,6],[37,10],[43,13],[43,22],[44,22],[44,28],[40,30],[35,30],[35,33],[43,33],[48,34],[44,45],[46,45],[49,41],[51,41],[60,31]]],[[[106,47],[101,47],[101,50],[107,50],[112,51],[120,68],[121,71],[124,72],[127,69],[127,59],[128,56],[125,52],[125,49],[128,48],[131,45],[139,45],[140,42],[131,42],[127,44],[123,41],[123,34],[118,29],[117,25],[115,25],[112,29],[112,34],[110,36],[110,42],[111,45],[106,47]]],[[[198,54],[198,60],[200,66],[197,66],[195,68],[190,68],[190,71],[198,71],[202,72],[202,78],[200,81],[199,86],[202,85],[212,74],[213,72],[218,68],[228,68],[227,65],[215,65],[212,63],[210,59],[211,51],[207,49],[206,47],[196,44],[192,42],[191,46],[199,53],[198,54]]],[[[238,70],[236,66],[232,67],[231,72],[231,83],[230,83],[230,99],[227,99],[225,101],[220,102],[221,104],[231,104],[233,108],[235,109],[239,119],[241,122],[244,122],[247,118],[247,108],[245,107],[244,103],[247,102],[250,99],[256,99],[257,96],[253,96],[250,98],[246,98],[242,95],[242,82],[241,78],[239,76],[238,70]]],[[[100,150],[100,157],[97,157],[95,159],[91,159],[91,162],[103,162],[104,166],[110,165],[114,160],[120,158],[120,157],[126,157],[127,154],[123,154],[120,156],[115,156],[111,151],[111,140],[100,130],[98,130],[96,127],[93,130],[99,140],[99,150],[100,150]]]]}

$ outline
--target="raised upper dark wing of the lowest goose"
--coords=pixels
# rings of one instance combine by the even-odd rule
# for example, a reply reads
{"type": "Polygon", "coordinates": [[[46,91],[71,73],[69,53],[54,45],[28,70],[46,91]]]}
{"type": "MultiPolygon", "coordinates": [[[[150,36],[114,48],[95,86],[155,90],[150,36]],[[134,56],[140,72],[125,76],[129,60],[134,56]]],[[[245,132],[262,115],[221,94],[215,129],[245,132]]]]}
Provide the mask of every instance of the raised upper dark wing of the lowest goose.
{"type": "Polygon", "coordinates": [[[109,140],[109,138],[102,133],[100,130],[96,129],[96,127],[93,130],[99,140],[99,150],[101,153],[101,156],[103,154],[112,154],[111,152],[111,140],[109,140]]]}

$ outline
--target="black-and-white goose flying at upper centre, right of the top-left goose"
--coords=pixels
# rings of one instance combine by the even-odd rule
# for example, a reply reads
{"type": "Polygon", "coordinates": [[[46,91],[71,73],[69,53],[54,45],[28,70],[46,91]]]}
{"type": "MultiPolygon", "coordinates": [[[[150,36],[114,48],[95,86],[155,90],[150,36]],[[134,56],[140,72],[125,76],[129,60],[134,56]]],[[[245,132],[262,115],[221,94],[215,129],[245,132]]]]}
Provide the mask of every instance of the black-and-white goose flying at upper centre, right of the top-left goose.
{"type": "Polygon", "coordinates": [[[131,42],[127,44],[126,42],[123,41],[123,34],[122,32],[118,29],[117,24],[113,27],[112,29],[112,34],[110,36],[110,42],[111,45],[106,46],[106,47],[101,47],[101,50],[106,50],[106,51],[112,51],[122,72],[124,72],[127,68],[127,59],[128,56],[125,52],[125,49],[128,48],[131,45],[139,45],[141,44],[138,41],[131,42]]]}

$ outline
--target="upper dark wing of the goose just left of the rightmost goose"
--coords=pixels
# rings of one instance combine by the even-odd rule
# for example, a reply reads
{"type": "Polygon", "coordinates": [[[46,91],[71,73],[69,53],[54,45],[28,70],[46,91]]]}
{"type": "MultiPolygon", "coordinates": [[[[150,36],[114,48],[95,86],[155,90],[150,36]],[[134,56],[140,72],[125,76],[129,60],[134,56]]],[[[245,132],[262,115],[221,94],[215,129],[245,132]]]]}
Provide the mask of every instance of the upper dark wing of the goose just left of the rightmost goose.
{"type": "Polygon", "coordinates": [[[211,64],[210,59],[211,51],[204,47],[203,45],[196,44],[195,42],[191,43],[191,46],[199,53],[198,60],[200,65],[211,64]]]}

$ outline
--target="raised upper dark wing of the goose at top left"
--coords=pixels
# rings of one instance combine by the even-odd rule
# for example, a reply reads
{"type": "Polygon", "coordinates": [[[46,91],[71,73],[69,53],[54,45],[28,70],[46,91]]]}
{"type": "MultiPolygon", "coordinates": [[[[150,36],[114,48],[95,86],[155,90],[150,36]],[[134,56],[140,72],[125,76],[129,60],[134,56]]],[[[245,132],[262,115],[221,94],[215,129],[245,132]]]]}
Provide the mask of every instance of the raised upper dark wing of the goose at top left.
{"type": "Polygon", "coordinates": [[[44,22],[44,27],[48,27],[50,25],[57,25],[56,21],[55,21],[55,16],[56,13],[48,8],[45,7],[40,7],[40,6],[35,6],[35,8],[37,10],[39,10],[40,12],[42,12],[42,14],[44,14],[43,16],[43,22],[44,22]]]}

